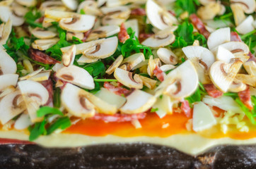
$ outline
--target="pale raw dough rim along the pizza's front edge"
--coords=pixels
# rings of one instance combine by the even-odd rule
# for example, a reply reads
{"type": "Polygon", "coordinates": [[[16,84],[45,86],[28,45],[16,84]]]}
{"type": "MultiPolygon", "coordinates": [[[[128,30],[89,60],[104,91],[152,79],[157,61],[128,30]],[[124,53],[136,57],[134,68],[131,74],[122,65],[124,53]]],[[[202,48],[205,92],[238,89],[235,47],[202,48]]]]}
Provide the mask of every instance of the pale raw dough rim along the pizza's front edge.
{"type": "MultiPolygon", "coordinates": [[[[0,131],[0,137],[28,141],[27,134],[15,130],[0,131]]],[[[209,139],[202,137],[199,134],[174,134],[170,137],[118,137],[114,135],[93,137],[83,134],[53,133],[49,136],[41,136],[35,140],[35,143],[40,144],[41,146],[59,148],[138,142],[170,146],[186,154],[196,156],[198,154],[202,154],[204,151],[206,151],[206,149],[210,149],[211,147],[221,144],[256,144],[256,137],[252,139],[231,139],[228,137],[209,139]]]]}

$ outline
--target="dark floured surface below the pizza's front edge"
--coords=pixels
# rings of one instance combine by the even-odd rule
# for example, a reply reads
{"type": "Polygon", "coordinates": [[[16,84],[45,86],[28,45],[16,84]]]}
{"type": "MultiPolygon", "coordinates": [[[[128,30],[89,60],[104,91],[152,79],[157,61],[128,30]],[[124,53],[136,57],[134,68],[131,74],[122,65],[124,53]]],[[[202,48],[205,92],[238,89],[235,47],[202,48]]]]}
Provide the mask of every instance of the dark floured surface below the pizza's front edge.
{"type": "Polygon", "coordinates": [[[256,145],[216,146],[190,156],[154,144],[103,144],[49,149],[36,144],[2,144],[0,168],[256,168],[256,145]]]}

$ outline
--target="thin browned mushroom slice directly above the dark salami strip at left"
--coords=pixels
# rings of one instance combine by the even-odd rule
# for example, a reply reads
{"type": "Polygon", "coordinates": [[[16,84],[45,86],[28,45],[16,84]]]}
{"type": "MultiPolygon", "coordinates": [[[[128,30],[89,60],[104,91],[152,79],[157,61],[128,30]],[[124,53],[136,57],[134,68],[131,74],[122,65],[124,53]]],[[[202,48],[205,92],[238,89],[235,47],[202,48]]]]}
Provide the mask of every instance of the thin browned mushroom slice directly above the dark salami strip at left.
{"type": "Polygon", "coordinates": [[[54,44],[57,44],[58,41],[59,41],[59,38],[57,37],[53,39],[37,39],[31,44],[31,46],[33,47],[33,49],[45,51],[50,47],[54,46],[54,44]]]}

